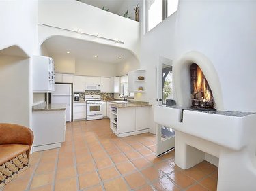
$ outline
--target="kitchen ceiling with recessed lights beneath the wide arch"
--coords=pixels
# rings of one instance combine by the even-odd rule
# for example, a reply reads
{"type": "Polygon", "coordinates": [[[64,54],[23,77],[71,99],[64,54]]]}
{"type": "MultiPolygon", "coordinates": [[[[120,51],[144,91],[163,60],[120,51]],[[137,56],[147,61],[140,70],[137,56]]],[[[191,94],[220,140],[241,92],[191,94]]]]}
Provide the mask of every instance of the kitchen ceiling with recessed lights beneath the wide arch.
{"type": "Polygon", "coordinates": [[[124,48],[72,39],[70,37],[51,37],[44,41],[44,45],[50,55],[66,54],[66,51],[70,51],[70,56],[83,58],[88,61],[123,63],[130,60],[130,58],[134,58],[134,55],[124,48]],[[94,58],[94,55],[98,57],[94,58]],[[119,56],[122,59],[119,59],[119,56]]]}

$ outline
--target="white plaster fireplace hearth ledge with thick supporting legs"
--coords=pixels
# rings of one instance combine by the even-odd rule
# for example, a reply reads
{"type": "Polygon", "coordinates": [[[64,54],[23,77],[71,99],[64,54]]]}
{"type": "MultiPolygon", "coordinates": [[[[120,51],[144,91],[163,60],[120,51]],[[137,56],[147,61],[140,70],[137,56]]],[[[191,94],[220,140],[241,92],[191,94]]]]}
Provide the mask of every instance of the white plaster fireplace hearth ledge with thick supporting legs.
{"type": "Polygon", "coordinates": [[[179,167],[189,169],[208,153],[219,158],[219,191],[255,190],[255,113],[155,106],[154,121],[175,130],[175,164],[179,167]]]}

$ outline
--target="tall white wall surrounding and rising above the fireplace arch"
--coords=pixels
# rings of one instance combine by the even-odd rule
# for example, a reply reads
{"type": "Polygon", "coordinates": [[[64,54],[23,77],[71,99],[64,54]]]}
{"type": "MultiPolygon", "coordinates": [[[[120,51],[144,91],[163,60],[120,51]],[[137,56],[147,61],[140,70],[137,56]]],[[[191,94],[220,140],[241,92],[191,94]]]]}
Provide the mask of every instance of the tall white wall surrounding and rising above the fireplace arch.
{"type": "Polygon", "coordinates": [[[180,0],[175,14],[141,38],[141,67],[150,77],[145,97],[150,103],[156,104],[159,56],[173,60],[174,71],[177,58],[197,50],[214,64],[225,110],[256,111],[255,9],[256,1],[180,0]]]}

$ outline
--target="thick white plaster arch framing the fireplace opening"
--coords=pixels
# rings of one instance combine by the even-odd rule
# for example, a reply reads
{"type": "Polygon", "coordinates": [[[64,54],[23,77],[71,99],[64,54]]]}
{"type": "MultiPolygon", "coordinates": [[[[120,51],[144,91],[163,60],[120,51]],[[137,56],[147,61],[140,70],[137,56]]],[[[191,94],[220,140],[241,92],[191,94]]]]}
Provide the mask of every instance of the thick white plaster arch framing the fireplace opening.
{"type": "Polygon", "coordinates": [[[205,75],[212,90],[217,110],[223,110],[223,97],[218,73],[212,62],[201,52],[191,51],[183,54],[173,65],[173,84],[176,90],[177,104],[190,107],[190,65],[196,63],[205,75]]]}

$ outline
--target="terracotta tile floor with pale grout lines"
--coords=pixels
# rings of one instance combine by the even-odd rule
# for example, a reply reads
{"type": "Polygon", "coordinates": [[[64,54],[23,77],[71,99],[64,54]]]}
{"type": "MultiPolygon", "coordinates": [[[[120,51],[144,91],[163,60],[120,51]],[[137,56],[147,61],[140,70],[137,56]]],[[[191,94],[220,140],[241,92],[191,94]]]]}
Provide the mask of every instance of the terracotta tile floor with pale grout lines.
{"type": "Polygon", "coordinates": [[[216,190],[218,168],[201,162],[175,166],[174,151],[154,156],[150,133],[118,138],[109,120],[66,124],[61,148],[34,152],[31,167],[0,191],[19,190],[216,190]]]}

